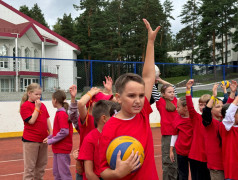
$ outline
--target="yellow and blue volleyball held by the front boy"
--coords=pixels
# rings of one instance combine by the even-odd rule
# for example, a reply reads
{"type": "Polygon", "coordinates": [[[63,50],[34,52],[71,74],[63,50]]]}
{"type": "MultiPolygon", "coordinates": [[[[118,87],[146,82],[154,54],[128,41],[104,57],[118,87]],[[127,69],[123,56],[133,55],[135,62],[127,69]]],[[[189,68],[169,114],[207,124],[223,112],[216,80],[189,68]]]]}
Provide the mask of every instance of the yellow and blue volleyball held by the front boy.
{"type": "Polygon", "coordinates": [[[119,136],[111,141],[106,152],[107,162],[111,169],[114,170],[116,168],[117,153],[119,150],[121,150],[122,161],[127,160],[132,150],[134,150],[134,153],[138,151],[138,155],[141,156],[140,163],[141,165],[143,164],[145,153],[142,144],[131,136],[119,136]]]}

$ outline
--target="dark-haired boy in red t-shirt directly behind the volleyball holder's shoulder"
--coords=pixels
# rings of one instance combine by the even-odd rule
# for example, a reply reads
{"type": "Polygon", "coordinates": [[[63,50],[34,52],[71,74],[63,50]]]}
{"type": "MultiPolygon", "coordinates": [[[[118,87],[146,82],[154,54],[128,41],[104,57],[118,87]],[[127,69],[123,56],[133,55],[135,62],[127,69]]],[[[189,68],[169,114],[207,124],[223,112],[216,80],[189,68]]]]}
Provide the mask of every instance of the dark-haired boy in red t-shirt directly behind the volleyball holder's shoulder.
{"type": "Polygon", "coordinates": [[[83,141],[78,159],[84,161],[85,176],[83,179],[100,178],[99,162],[99,139],[104,124],[114,114],[120,110],[120,105],[113,101],[100,100],[93,106],[92,115],[96,128],[93,129],[83,141]],[[110,114],[110,112],[112,114],[110,114]]]}

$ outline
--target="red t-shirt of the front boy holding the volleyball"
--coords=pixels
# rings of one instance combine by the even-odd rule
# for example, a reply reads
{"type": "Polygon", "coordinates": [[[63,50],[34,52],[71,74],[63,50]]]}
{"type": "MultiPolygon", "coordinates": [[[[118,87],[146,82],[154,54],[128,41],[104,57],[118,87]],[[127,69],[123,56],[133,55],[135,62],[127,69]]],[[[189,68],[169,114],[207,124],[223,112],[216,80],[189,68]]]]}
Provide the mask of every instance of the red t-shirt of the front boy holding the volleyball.
{"type": "Polygon", "coordinates": [[[159,179],[154,159],[154,146],[150,129],[149,114],[152,112],[148,100],[145,98],[144,107],[139,114],[130,120],[111,117],[104,125],[99,143],[100,172],[110,168],[106,160],[106,151],[110,142],[118,136],[132,136],[144,147],[145,159],[142,166],[135,172],[122,179],[159,179]]]}

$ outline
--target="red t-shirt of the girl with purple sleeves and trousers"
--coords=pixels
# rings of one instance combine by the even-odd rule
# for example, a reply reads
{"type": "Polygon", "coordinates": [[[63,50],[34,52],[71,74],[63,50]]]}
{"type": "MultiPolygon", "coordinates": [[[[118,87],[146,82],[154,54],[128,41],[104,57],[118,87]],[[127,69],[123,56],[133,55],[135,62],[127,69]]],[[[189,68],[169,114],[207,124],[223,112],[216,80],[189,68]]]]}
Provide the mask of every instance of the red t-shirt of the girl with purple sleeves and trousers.
{"type": "Polygon", "coordinates": [[[69,154],[73,146],[73,126],[68,122],[68,114],[65,111],[57,111],[54,119],[53,137],[60,129],[69,129],[69,135],[57,143],[52,144],[53,153],[69,154]]]}

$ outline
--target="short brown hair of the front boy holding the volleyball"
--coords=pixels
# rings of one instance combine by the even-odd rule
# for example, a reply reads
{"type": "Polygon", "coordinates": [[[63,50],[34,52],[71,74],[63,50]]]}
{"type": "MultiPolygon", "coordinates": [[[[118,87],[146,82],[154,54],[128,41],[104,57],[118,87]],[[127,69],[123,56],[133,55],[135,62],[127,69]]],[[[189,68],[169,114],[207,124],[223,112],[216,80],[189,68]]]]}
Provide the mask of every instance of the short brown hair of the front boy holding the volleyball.
{"type": "Polygon", "coordinates": [[[135,81],[145,86],[145,82],[141,76],[138,74],[133,73],[125,73],[119,76],[115,82],[116,92],[122,94],[123,90],[125,89],[126,84],[129,81],[135,81]]]}

